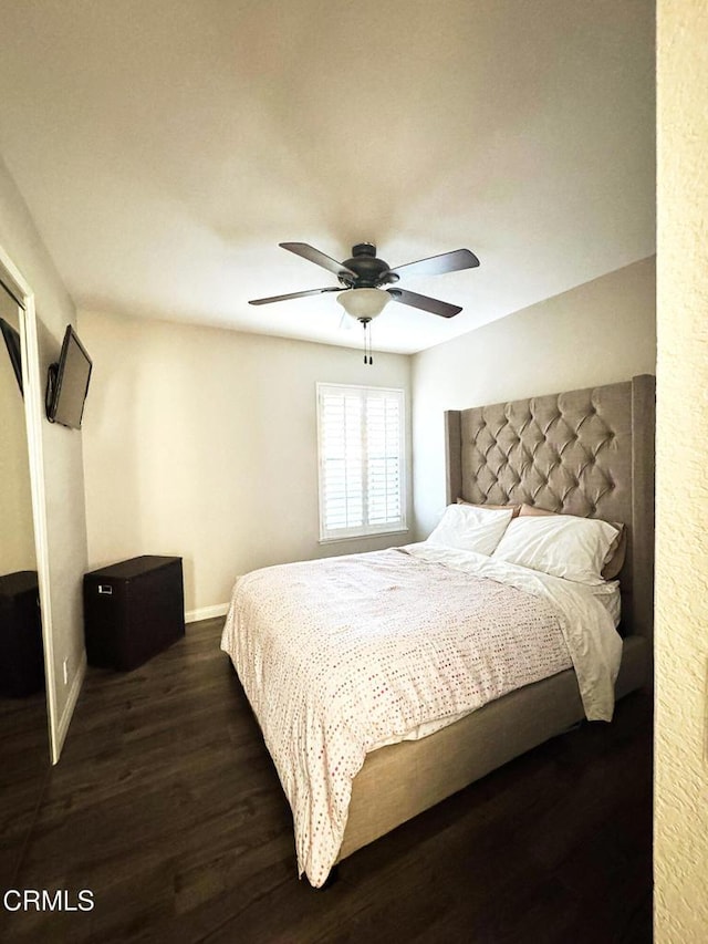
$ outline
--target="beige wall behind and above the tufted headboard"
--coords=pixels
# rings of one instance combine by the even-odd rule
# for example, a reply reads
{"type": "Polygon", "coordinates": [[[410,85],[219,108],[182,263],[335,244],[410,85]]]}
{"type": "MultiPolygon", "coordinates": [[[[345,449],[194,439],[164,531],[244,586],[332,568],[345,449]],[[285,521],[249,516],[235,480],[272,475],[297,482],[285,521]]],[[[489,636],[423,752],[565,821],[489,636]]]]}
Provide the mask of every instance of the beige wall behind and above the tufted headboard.
{"type": "Polygon", "coordinates": [[[444,411],[654,373],[655,311],[652,257],[416,354],[417,536],[445,508],[444,411]]]}

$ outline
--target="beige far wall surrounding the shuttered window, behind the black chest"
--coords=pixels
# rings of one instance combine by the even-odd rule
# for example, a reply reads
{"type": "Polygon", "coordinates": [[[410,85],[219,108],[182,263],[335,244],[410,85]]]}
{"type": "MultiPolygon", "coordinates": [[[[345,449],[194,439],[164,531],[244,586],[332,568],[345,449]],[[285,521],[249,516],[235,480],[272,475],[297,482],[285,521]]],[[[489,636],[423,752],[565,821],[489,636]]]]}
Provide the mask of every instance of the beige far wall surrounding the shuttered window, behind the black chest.
{"type": "Polygon", "coordinates": [[[319,544],[315,382],[407,391],[408,357],[88,312],[79,330],[92,567],[179,554],[191,613],[253,568],[406,540],[319,544]]]}

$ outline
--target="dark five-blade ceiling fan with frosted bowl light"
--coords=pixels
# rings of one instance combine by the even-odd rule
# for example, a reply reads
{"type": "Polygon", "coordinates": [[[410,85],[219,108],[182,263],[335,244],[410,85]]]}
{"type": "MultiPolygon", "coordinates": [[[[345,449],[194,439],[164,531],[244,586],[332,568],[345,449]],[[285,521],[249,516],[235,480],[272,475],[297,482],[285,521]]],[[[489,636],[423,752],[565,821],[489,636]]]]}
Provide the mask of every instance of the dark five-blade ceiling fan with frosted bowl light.
{"type": "Polygon", "coordinates": [[[441,256],[431,256],[428,259],[419,259],[417,262],[407,262],[391,269],[387,262],[376,257],[376,247],[373,242],[360,242],[353,246],[352,258],[344,262],[337,262],[336,259],[325,256],[306,242],[280,242],[279,245],[314,262],[315,266],[333,272],[340,280],[340,284],[290,292],[285,295],[272,295],[267,299],[253,299],[249,304],[270,304],[275,301],[319,295],[323,292],[339,292],[337,301],[342,308],[365,326],[373,318],[381,314],[392,299],[400,304],[439,314],[441,318],[452,318],[462,310],[459,305],[420,295],[408,289],[386,288],[386,286],[395,286],[402,277],[406,276],[440,276],[444,272],[457,272],[460,269],[475,269],[479,266],[479,259],[469,249],[456,249],[452,252],[444,252],[441,256]]]}

